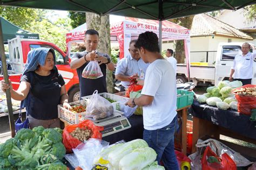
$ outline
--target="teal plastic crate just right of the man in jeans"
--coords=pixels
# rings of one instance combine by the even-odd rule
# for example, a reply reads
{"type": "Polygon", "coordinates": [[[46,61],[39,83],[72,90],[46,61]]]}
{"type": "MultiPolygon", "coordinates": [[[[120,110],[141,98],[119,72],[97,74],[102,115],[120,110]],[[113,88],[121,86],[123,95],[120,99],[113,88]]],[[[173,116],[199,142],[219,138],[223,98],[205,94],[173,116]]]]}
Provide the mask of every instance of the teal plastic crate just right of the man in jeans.
{"type": "Polygon", "coordinates": [[[177,109],[192,105],[194,92],[177,90],[177,109]],[[181,96],[179,96],[181,94],[181,96]]]}

